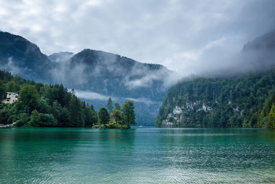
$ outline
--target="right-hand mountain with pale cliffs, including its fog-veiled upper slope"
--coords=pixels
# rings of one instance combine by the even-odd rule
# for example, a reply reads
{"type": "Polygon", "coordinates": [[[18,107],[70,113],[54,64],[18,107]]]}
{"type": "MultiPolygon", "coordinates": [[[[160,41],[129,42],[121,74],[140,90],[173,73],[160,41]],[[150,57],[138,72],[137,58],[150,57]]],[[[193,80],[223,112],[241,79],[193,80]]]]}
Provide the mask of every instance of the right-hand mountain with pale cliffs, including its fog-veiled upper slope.
{"type": "Polygon", "coordinates": [[[184,79],[170,88],[155,125],[272,127],[267,117],[275,103],[275,31],[244,45],[239,59],[245,74],[184,79]]]}

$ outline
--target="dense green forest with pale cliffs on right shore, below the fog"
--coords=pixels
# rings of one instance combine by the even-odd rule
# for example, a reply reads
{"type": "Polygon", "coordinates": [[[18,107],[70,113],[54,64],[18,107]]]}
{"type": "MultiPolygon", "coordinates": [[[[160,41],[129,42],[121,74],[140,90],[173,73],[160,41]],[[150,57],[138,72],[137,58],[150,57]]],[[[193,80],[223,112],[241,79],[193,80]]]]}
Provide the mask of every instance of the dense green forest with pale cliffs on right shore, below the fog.
{"type": "Polygon", "coordinates": [[[274,71],[186,79],[168,90],[155,126],[275,128],[274,105],[274,71]]]}

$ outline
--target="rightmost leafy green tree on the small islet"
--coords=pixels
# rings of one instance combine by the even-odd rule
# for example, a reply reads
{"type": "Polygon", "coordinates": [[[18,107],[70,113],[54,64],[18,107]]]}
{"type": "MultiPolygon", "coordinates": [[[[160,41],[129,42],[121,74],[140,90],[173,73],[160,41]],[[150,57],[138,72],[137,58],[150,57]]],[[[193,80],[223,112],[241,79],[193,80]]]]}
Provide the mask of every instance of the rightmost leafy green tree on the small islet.
{"type": "Polygon", "coordinates": [[[122,119],[128,126],[135,125],[135,106],[133,101],[125,101],[122,105],[122,119]]]}

